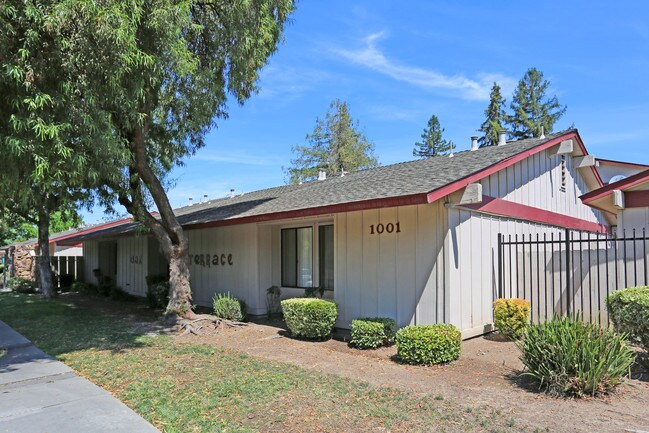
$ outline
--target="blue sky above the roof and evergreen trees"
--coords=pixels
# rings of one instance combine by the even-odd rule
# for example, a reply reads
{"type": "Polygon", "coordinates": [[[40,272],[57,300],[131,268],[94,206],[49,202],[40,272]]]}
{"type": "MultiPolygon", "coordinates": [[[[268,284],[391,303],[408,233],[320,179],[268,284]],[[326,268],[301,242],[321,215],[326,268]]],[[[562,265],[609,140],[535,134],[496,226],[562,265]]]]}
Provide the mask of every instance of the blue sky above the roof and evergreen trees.
{"type": "MultiPolygon", "coordinates": [[[[260,92],[171,174],[174,207],[284,183],[329,103],[343,99],[381,164],[412,159],[432,114],[458,150],[484,120],[491,85],[507,103],[530,67],[567,105],[590,153],[649,164],[649,2],[302,1],[260,92]]],[[[85,214],[87,223],[103,217],[85,214]]]]}

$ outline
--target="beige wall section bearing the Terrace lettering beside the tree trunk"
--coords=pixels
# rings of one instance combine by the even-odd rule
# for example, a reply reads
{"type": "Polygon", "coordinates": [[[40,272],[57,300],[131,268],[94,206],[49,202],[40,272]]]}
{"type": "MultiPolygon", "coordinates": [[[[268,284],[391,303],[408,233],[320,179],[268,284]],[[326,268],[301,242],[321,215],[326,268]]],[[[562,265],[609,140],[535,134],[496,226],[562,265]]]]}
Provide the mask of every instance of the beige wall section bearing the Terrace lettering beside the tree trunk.
{"type": "Polygon", "coordinates": [[[257,225],[188,230],[187,236],[194,302],[210,307],[215,294],[230,292],[246,301],[250,314],[265,313],[258,257],[268,252],[258,249],[257,225]]]}

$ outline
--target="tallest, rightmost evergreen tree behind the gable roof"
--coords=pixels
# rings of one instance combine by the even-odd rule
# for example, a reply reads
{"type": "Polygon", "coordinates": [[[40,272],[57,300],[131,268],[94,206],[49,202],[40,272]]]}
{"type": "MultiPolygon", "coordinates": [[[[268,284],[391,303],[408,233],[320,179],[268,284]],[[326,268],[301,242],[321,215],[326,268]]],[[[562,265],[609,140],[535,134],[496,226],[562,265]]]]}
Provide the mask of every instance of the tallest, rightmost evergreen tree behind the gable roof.
{"type": "Polygon", "coordinates": [[[554,124],[566,112],[556,96],[546,96],[549,86],[550,82],[544,80],[543,73],[536,68],[528,69],[518,82],[510,106],[513,114],[508,121],[514,138],[539,137],[542,127],[544,133],[551,133],[554,124]]]}

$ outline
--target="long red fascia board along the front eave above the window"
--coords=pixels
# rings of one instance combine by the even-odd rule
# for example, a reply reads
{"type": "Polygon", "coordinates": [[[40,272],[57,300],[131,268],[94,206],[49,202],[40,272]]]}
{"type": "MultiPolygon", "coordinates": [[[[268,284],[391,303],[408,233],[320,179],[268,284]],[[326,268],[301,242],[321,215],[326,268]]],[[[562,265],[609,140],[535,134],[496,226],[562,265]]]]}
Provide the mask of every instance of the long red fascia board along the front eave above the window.
{"type": "Polygon", "coordinates": [[[202,229],[209,227],[223,227],[238,224],[250,224],[268,221],[277,221],[289,218],[303,218],[317,215],[326,215],[340,212],[353,212],[366,209],[379,209],[394,206],[409,206],[415,204],[426,204],[426,194],[413,194],[401,197],[386,197],[373,200],[363,200],[351,203],[340,203],[327,206],[319,206],[308,209],[296,209],[291,211],[276,212],[263,215],[253,215],[241,218],[232,218],[220,221],[210,221],[206,223],[187,224],[183,228],[187,230],[202,229]]]}

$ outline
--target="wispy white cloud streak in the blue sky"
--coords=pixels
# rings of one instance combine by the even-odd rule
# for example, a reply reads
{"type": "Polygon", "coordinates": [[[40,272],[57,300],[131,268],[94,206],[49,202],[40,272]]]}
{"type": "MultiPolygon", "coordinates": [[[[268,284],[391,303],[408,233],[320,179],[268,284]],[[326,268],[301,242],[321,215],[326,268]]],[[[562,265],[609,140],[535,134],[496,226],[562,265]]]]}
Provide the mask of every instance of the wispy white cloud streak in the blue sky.
{"type": "Polygon", "coordinates": [[[449,76],[437,71],[400,64],[388,59],[376,47],[376,42],[383,37],[383,32],[374,33],[364,39],[364,47],[360,49],[335,48],[333,52],[352,63],[373,69],[395,80],[424,89],[443,91],[462,99],[488,100],[494,81],[503,88],[505,95],[510,94],[516,84],[515,80],[501,74],[482,73],[475,79],[471,79],[462,75],[449,76]]]}

